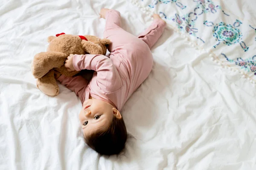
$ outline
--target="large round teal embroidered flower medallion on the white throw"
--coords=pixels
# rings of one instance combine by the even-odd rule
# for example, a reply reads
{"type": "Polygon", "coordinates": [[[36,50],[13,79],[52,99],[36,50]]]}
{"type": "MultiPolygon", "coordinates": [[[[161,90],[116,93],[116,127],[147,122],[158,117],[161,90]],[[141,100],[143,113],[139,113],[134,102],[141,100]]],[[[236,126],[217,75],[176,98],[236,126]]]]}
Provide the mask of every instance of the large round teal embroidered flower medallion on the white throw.
{"type": "Polygon", "coordinates": [[[224,44],[232,45],[241,40],[242,34],[238,28],[234,28],[230,24],[218,23],[214,26],[213,37],[216,41],[223,41],[224,44]]]}

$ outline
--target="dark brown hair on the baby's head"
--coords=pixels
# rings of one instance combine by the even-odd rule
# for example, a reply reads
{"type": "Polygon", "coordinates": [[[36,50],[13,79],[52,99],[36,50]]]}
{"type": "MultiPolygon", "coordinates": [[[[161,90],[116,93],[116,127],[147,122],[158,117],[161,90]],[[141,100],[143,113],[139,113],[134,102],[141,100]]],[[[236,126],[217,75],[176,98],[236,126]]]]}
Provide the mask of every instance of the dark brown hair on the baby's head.
{"type": "Polygon", "coordinates": [[[96,131],[86,136],[85,142],[101,155],[119,155],[125,148],[127,131],[123,118],[113,117],[111,125],[105,131],[96,131]]]}

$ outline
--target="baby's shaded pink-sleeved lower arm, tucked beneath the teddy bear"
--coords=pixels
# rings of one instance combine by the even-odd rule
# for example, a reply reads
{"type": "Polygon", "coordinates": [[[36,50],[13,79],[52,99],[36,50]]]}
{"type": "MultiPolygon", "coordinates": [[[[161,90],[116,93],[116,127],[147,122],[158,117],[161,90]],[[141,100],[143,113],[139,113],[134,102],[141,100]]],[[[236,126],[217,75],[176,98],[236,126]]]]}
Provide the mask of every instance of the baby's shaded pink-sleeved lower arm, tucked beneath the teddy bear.
{"type": "Polygon", "coordinates": [[[76,95],[81,99],[81,102],[84,102],[85,89],[89,83],[86,79],[81,76],[65,77],[64,75],[61,75],[57,80],[71,91],[74,91],[76,95]]]}

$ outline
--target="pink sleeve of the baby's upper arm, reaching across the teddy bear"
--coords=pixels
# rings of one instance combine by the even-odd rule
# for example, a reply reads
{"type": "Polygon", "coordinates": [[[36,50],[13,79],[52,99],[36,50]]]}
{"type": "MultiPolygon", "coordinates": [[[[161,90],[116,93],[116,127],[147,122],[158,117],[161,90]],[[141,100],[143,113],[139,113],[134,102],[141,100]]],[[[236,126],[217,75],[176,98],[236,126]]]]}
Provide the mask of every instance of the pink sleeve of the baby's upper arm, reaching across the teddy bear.
{"type": "Polygon", "coordinates": [[[122,81],[112,60],[104,55],[74,55],[73,66],[76,71],[83,69],[97,72],[97,84],[105,93],[112,93],[122,87],[122,81]]]}

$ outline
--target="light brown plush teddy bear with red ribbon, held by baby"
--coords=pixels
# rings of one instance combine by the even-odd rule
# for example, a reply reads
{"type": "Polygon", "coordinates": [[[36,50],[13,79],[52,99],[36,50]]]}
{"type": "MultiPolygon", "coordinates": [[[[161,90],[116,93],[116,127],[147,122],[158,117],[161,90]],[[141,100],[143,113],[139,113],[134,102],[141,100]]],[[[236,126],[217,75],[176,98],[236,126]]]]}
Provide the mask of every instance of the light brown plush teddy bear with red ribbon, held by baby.
{"type": "Polygon", "coordinates": [[[72,34],[56,34],[48,37],[47,52],[35,55],[31,71],[37,79],[37,87],[49,96],[56,96],[59,87],[54,77],[57,71],[66,77],[75,76],[79,71],[68,71],[64,62],[70,54],[102,54],[105,55],[108,39],[100,39],[92,35],[78,36],[72,34]]]}

